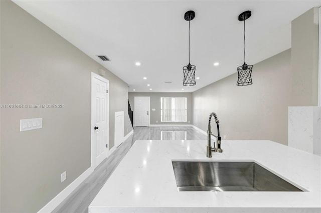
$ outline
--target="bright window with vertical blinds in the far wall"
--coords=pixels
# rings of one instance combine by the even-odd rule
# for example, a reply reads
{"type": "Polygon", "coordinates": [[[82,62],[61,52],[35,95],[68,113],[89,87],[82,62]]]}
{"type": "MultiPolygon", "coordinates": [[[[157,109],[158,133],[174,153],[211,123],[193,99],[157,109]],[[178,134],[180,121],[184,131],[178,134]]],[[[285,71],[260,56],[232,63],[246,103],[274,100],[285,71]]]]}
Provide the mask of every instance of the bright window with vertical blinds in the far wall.
{"type": "Polygon", "coordinates": [[[162,122],[186,122],[187,97],[161,97],[162,122]]]}

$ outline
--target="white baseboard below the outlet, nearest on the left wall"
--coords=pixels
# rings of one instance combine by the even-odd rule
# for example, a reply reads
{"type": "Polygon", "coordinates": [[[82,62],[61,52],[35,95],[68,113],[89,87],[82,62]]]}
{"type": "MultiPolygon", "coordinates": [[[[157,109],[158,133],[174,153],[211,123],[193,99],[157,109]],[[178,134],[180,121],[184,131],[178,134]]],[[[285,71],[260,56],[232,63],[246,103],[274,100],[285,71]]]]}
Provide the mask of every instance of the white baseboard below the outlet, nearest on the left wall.
{"type": "Polygon", "coordinates": [[[77,177],[72,183],[70,183],[64,190],[62,190],[57,196],[55,196],[51,201],[49,201],[43,208],[38,212],[52,212],[66,197],[77,188],[80,183],[82,183],[94,169],[89,167],[84,171],[79,177],[77,177]]]}

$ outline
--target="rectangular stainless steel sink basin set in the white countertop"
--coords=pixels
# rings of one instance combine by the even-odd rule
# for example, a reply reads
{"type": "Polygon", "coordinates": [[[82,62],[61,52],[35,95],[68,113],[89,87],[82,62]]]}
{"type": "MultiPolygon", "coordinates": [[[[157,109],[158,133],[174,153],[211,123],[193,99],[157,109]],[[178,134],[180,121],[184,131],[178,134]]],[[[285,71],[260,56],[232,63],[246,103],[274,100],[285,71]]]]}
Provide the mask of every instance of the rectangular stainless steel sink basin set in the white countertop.
{"type": "Polygon", "coordinates": [[[255,162],[172,163],[179,191],[302,191],[255,162]]]}

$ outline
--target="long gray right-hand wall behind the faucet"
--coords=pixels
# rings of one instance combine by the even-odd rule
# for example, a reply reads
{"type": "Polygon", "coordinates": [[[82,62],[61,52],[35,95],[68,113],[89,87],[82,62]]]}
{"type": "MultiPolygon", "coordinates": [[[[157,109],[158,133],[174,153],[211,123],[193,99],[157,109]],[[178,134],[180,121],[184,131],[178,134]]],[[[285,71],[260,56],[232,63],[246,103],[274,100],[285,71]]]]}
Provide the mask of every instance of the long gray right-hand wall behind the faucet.
{"type": "MultiPolygon", "coordinates": [[[[290,59],[288,49],[254,64],[252,85],[237,86],[235,73],[193,92],[193,124],[207,130],[208,116],[214,111],[226,139],[270,139],[287,144],[290,59]]],[[[222,146],[224,149],[224,142],[222,146]]]]}

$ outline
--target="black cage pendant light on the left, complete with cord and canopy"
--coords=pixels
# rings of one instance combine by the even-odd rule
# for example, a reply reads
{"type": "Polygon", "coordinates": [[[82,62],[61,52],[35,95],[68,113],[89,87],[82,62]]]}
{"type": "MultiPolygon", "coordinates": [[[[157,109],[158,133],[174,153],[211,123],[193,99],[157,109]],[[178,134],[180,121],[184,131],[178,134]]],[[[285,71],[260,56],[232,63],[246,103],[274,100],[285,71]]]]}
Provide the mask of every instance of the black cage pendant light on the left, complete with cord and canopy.
{"type": "Polygon", "coordinates": [[[195,82],[195,70],[196,66],[191,65],[190,63],[190,21],[195,17],[195,12],[193,10],[189,10],[185,12],[184,19],[189,21],[189,64],[183,67],[184,72],[184,86],[193,86],[196,84],[195,82]]]}

